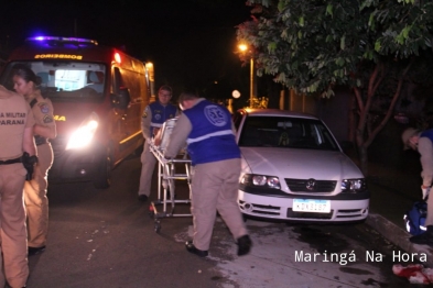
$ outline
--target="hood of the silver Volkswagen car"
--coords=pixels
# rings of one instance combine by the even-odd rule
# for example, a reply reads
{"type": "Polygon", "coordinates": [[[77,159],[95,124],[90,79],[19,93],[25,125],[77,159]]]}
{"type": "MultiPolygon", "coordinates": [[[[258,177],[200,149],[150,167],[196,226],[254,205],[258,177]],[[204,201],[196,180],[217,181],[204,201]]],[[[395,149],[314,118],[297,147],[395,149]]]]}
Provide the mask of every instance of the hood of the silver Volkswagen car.
{"type": "Polygon", "coordinates": [[[295,148],[241,147],[242,173],[292,179],[340,180],[364,178],[342,152],[295,148]]]}

